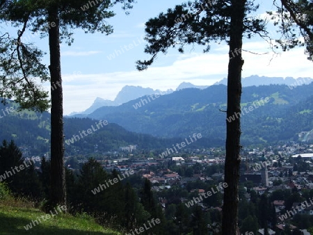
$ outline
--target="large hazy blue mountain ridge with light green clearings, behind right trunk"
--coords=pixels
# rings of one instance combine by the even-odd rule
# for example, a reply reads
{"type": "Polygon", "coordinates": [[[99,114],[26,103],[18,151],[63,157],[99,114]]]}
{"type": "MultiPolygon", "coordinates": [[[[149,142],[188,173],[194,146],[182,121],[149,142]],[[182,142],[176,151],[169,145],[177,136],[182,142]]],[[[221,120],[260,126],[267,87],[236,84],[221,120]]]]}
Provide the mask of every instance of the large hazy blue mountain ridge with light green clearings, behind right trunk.
{"type": "MultiPolygon", "coordinates": [[[[313,83],[290,84],[243,88],[241,106],[248,110],[242,117],[243,144],[298,140],[298,133],[312,129],[313,83]],[[253,108],[252,104],[266,97],[268,103],[253,108]],[[297,113],[292,114],[293,110],[297,113]]],[[[218,145],[225,140],[226,116],[221,112],[225,110],[227,87],[217,85],[202,90],[177,90],[153,100],[141,97],[120,106],[104,106],[88,117],[161,138],[186,138],[192,133],[202,133],[218,145]]]]}

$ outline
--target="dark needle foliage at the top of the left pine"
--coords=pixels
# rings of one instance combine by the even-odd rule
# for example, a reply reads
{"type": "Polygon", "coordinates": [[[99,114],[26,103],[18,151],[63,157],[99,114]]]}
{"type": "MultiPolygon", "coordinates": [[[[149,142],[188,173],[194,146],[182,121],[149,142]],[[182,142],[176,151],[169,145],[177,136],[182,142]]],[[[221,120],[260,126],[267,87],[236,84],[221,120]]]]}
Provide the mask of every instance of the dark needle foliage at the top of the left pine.
{"type": "Polygon", "coordinates": [[[40,32],[40,35],[47,36],[47,9],[58,5],[58,17],[61,25],[61,40],[68,44],[73,42],[72,29],[81,28],[86,33],[95,33],[95,31],[110,34],[113,33],[113,27],[105,19],[115,15],[111,8],[117,3],[122,3],[122,8],[129,10],[132,8],[133,0],[114,0],[99,1],[97,6],[92,6],[88,10],[82,10],[86,1],[7,1],[2,8],[1,19],[13,20],[16,24],[22,24],[26,19],[31,24],[29,28],[33,32],[40,32]]]}

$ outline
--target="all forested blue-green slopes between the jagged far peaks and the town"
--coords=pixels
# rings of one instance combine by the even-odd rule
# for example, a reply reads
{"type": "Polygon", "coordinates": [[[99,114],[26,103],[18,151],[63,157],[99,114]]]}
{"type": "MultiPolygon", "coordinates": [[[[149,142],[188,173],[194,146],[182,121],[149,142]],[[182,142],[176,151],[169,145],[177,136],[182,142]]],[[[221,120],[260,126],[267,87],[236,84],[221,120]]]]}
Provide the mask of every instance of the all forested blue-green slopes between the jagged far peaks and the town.
{"type": "MultiPolygon", "coordinates": [[[[243,87],[241,96],[241,144],[313,140],[313,83],[300,80],[287,85],[243,87]]],[[[151,90],[150,90],[151,91],[151,90]]],[[[49,152],[50,114],[32,111],[6,112],[0,107],[0,140],[15,140],[23,152],[49,152]],[[6,114],[6,115],[5,115],[6,114]]],[[[9,108],[9,107],[8,107],[9,108]]],[[[10,110],[10,109],[8,109],[10,110]]],[[[65,117],[66,154],[114,151],[122,146],[166,149],[184,139],[201,134],[191,147],[225,145],[227,86],[204,89],[184,88],[167,95],[145,95],[119,106],[102,106],[87,117],[65,117]],[[83,136],[99,120],[109,124],[83,136]]],[[[238,114],[237,114],[238,115],[238,114]]],[[[236,118],[236,114],[228,121],[236,118]]]]}

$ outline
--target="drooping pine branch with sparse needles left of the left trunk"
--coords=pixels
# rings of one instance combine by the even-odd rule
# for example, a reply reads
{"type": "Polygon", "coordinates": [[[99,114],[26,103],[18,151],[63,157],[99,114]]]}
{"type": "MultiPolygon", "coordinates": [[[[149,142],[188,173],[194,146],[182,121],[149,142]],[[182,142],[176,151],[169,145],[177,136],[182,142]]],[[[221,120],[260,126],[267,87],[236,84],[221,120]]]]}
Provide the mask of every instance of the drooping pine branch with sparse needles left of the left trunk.
{"type": "MultiPolygon", "coordinates": [[[[10,7],[6,6],[0,6],[0,20],[7,15],[10,7]]],[[[40,82],[49,81],[47,68],[40,61],[44,53],[32,44],[20,43],[25,27],[26,22],[18,31],[17,38],[0,31],[1,103],[6,104],[6,99],[14,99],[20,108],[46,111],[49,108],[48,92],[34,79],[38,77],[40,82]]]]}

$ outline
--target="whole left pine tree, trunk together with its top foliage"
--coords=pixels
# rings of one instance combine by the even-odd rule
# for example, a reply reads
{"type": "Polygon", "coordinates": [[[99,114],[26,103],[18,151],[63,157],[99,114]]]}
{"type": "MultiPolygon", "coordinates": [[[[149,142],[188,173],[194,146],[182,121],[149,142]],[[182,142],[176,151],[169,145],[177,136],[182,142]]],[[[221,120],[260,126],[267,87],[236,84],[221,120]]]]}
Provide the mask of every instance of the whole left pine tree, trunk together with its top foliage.
{"type": "MultiPolygon", "coordinates": [[[[123,3],[122,8],[127,10],[131,8],[132,2],[133,0],[100,1],[97,6],[90,7],[88,10],[82,10],[81,6],[86,4],[85,0],[22,0],[5,1],[5,4],[1,8],[0,19],[12,21],[23,27],[22,31],[19,31],[17,47],[20,45],[23,47],[24,45],[22,35],[26,28],[33,32],[40,32],[43,36],[48,35],[50,54],[49,72],[51,81],[50,207],[54,207],[56,204],[66,205],[65,167],[63,162],[64,136],[60,57],[61,40],[65,40],[69,45],[72,44],[73,38],[71,31],[74,28],[82,28],[86,33],[94,33],[95,31],[106,34],[112,33],[112,26],[108,25],[104,20],[114,16],[113,11],[109,10],[109,8],[115,3],[123,3]]],[[[33,58],[35,62],[38,61],[38,56],[40,56],[38,53],[38,51],[35,51],[30,54],[30,58],[33,58]]],[[[10,59],[6,56],[4,61],[8,60],[10,59]]],[[[29,60],[29,64],[33,63],[33,60],[29,60]]],[[[30,68],[37,71],[36,68],[30,68]]],[[[38,70],[39,73],[43,73],[45,71],[44,69],[45,67],[42,67],[38,70]]],[[[27,70],[22,70],[23,78],[27,81],[25,71],[27,70]]],[[[4,76],[6,75],[7,74],[4,74],[4,76]]],[[[45,95],[47,96],[47,93],[45,93],[45,95]]]]}

